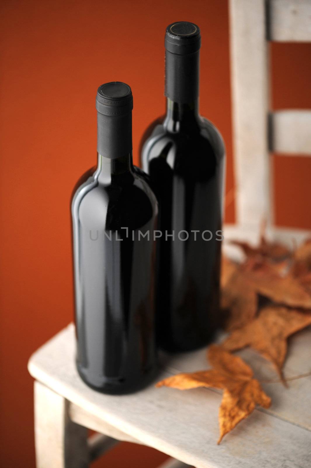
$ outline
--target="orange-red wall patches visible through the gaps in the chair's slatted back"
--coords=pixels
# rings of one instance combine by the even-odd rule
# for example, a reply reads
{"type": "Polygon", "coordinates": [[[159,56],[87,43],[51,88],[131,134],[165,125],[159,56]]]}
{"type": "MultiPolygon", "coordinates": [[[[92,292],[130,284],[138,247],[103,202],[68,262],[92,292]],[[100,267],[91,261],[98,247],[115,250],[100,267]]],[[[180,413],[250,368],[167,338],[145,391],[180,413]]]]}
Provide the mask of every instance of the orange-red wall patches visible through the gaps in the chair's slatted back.
{"type": "MultiPolygon", "coordinates": [[[[311,109],[311,43],[272,43],[271,78],[272,109],[311,109]]],[[[276,224],[311,229],[311,158],[274,154],[272,168],[276,224]]]]}

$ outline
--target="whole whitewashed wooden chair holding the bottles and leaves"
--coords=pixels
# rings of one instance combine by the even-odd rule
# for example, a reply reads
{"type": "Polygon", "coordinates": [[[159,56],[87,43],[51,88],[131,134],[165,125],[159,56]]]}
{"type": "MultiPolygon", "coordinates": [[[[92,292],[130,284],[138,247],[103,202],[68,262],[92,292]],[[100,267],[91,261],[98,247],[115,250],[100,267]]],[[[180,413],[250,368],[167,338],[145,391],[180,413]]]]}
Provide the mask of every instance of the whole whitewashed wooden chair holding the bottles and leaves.
{"type": "MultiPolygon", "coordinates": [[[[230,0],[234,156],[237,223],[225,238],[255,240],[268,216],[271,236],[301,240],[307,233],[273,227],[269,149],[311,154],[311,112],[269,112],[267,40],[310,41],[311,0],[230,0]],[[267,25],[269,27],[267,28],[267,25]],[[268,127],[272,123],[272,148],[268,127]]],[[[311,329],[292,340],[284,373],[310,371],[311,329]]],[[[34,353],[28,369],[35,378],[37,468],[86,468],[101,453],[127,440],[152,446],[171,457],[163,467],[307,468],[310,466],[310,380],[263,383],[272,397],[269,410],[254,414],[218,439],[221,396],[212,389],[178,391],[149,386],[133,395],[110,396],[88,388],[74,365],[71,324],[34,353]],[[98,434],[87,439],[87,428],[98,434]],[[175,460],[177,459],[177,460],[175,460]]],[[[261,357],[240,353],[258,378],[275,377],[261,357]]],[[[206,368],[205,350],[172,358],[159,380],[177,372],[206,368]]]]}

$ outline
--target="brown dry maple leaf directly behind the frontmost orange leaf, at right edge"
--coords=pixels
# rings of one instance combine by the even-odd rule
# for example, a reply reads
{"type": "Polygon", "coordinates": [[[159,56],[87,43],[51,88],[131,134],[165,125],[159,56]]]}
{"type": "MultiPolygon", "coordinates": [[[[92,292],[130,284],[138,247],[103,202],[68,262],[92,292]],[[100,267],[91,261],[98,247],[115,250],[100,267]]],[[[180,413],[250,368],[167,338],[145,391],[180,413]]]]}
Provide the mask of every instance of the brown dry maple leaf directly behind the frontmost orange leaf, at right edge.
{"type": "Polygon", "coordinates": [[[264,307],[252,322],[233,331],[222,345],[228,351],[252,347],[274,364],[283,379],[282,366],[287,353],[286,340],[310,324],[310,313],[281,306],[268,306],[264,307]]]}

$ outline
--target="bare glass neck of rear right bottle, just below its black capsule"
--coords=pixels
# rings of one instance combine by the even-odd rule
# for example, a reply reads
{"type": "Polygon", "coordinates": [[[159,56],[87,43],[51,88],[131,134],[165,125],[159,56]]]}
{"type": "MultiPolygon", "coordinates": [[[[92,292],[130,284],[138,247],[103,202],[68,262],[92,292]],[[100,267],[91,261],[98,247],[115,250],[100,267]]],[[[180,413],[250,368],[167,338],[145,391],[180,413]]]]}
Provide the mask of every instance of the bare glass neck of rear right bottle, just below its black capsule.
{"type": "Polygon", "coordinates": [[[198,125],[198,99],[193,102],[176,102],[167,98],[164,127],[169,132],[179,132],[198,125]]]}

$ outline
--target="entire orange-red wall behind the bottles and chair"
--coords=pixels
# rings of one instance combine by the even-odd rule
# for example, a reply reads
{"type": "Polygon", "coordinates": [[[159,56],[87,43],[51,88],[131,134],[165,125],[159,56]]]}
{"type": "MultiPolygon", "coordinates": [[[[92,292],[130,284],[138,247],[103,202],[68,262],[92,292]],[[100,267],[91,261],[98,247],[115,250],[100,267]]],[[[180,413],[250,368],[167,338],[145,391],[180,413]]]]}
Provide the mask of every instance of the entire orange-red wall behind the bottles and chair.
{"type": "MultiPolygon", "coordinates": [[[[143,130],[164,110],[164,30],[180,20],[201,27],[200,108],[226,141],[229,191],[226,0],[2,0],[1,467],[34,467],[27,360],[72,320],[69,198],[78,177],[96,162],[97,87],[111,80],[131,85],[137,163],[143,130]]],[[[272,45],[275,108],[311,108],[310,57],[309,44],[272,45]]],[[[277,222],[311,228],[311,159],[273,161],[277,222]]],[[[234,221],[234,203],[226,220],[234,221]]],[[[164,458],[125,444],[105,466],[152,468],[164,458]]]]}

